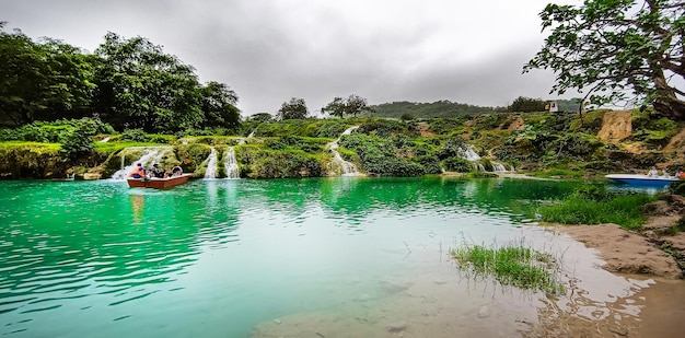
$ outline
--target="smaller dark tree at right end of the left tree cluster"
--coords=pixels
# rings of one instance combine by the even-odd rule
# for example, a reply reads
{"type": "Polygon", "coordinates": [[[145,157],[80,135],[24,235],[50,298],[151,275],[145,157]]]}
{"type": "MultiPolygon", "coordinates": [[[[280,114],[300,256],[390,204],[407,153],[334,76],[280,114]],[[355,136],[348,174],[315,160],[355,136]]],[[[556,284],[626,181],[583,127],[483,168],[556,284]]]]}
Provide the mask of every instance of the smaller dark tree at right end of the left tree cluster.
{"type": "Polygon", "coordinates": [[[224,83],[210,81],[202,88],[204,127],[235,128],[241,110],[235,107],[237,95],[224,83]]]}

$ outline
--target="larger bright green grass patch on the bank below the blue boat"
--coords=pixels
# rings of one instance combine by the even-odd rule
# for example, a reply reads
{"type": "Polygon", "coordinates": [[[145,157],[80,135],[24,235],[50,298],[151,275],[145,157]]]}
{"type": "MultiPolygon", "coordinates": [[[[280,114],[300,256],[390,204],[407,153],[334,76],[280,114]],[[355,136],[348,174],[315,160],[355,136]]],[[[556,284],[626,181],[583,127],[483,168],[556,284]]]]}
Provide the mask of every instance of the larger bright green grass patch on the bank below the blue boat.
{"type": "Polygon", "coordinates": [[[603,187],[582,187],[552,206],[542,206],[537,212],[544,221],[564,224],[615,223],[624,229],[639,229],[645,222],[640,206],[657,197],[645,194],[619,194],[603,187]]]}

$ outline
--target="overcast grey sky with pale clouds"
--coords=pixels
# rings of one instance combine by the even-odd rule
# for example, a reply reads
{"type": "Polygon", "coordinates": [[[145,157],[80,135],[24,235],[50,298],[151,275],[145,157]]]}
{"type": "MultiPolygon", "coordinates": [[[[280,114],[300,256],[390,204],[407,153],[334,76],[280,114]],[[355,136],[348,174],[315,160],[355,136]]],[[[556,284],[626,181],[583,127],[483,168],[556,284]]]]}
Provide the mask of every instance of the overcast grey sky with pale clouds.
{"type": "Polygon", "coordinates": [[[243,115],[274,114],[291,97],[317,113],[352,93],[369,104],[506,106],[552,97],[550,71],[521,70],[553,1],[1,0],[0,21],[89,51],[107,32],[146,37],[201,82],[227,83],[243,115]]]}

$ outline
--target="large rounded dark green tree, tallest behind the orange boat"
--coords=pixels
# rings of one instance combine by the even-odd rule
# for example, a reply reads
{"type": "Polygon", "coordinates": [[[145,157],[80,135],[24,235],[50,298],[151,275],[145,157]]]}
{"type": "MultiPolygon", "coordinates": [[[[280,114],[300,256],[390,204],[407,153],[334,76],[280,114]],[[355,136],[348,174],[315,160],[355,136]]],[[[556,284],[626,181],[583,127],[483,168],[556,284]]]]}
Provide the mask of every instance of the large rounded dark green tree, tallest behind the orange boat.
{"type": "Polygon", "coordinates": [[[117,129],[177,131],[202,123],[201,85],[191,66],[140,36],[107,33],[95,54],[96,107],[117,129]]]}

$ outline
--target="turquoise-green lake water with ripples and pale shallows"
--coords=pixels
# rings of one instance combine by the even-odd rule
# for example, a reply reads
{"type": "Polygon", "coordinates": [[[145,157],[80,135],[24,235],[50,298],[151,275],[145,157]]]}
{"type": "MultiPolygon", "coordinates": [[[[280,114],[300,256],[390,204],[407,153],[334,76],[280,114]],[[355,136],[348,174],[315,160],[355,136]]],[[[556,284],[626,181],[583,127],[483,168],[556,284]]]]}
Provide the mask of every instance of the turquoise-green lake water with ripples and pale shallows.
{"type": "Polygon", "coordinates": [[[0,334],[510,337],[550,311],[635,316],[620,300],[639,282],[522,215],[574,185],[335,177],[198,179],[160,191],[0,182],[0,334]],[[510,241],[562,257],[569,293],[475,280],[448,257],[463,243],[510,241]]]}

